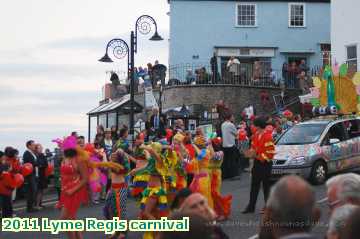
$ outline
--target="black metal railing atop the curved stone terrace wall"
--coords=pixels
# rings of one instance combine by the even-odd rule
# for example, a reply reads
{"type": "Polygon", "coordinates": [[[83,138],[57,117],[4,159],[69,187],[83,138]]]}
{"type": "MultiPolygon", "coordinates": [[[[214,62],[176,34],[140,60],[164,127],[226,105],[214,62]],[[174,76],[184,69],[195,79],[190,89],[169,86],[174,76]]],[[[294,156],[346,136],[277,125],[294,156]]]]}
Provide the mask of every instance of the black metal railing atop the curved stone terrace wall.
{"type": "MultiPolygon", "coordinates": [[[[307,70],[307,76],[320,72],[320,67],[307,70]]],[[[169,67],[168,85],[216,85],[231,84],[244,86],[280,87],[298,89],[300,70],[272,69],[267,61],[257,64],[241,63],[216,70],[210,64],[179,64],[169,67]]]]}

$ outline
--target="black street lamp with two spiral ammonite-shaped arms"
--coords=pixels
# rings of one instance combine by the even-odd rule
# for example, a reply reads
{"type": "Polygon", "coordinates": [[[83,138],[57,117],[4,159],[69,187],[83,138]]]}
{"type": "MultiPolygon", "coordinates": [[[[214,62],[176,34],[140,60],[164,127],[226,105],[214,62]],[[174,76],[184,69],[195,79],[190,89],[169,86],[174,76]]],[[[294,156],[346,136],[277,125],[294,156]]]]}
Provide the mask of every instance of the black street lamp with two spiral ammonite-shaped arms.
{"type": "MultiPolygon", "coordinates": [[[[117,59],[122,59],[126,55],[128,56],[128,74],[130,73],[130,134],[134,137],[134,95],[135,95],[135,53],[137,53],[137,33],[138,31],[147,35],[151,32],[151,26],[155,26],[155,33],[149,39],[150,41],[161,41],[163,38],[159,35],[157,31],[157,24],[153,17],[149,15],[140,16],[135,23],[135,31],[131,31],[130,35],[130,48],[128,44],[119,38],[112,39],[106,47],[105,55],[99,60],[101,62],[113,62],[108,55],[109,48],[112,49],[112,54],[117,59]],[[130,53],[130,54],[129,54],[130,53]]],[[[129,78],[129,77],[128,77],[129,78]]]]}

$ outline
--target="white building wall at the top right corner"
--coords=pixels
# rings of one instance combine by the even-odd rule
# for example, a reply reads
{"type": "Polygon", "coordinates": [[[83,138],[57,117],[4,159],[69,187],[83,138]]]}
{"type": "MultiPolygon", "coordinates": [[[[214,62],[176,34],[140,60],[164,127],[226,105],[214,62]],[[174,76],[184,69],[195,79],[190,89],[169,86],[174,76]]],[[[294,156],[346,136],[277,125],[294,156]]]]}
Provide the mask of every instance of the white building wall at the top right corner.
{"type": "Polygon", "coordinates": [[[348,63],[351,71],[360,71],[359,9],[358,0],[331,1],[332,60],[348,63]]]}

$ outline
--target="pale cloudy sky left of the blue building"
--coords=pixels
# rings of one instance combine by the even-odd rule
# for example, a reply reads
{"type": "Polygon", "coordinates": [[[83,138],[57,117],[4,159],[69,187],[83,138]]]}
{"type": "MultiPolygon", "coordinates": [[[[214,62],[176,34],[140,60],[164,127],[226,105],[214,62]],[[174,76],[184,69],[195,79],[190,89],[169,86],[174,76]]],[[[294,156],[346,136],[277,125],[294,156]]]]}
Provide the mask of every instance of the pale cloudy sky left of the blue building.
{"type": "Polygon", "coordinates": [[[166,0],[0,0],[0,150],[25,149],[33,139],[72,131],[87,137],[86,113],[101,100],[111,70],[126,71],[126,59],[101,63],[112,38],[129,42],[136,19],[151,15],[165,39],[138,36],[135,66],[168,62],[166,0]]]}

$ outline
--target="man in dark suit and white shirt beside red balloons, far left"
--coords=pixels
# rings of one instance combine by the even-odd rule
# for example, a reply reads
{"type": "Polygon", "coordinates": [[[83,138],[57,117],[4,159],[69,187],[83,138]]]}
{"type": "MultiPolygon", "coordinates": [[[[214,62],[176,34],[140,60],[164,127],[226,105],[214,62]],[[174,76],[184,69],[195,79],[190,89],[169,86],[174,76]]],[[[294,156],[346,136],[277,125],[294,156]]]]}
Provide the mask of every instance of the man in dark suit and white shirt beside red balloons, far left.
{"type": "Polygon", "coordinates": [[[35,212],[38,209],[34,208],[36,199],[36,177],[38,176],[37,159],[35,155],[36,144],[33,140],[26,142],[27,150],[23,155],[23,163],[31,163],[33,171],[30,175],[25,177],[26,198],[27,198],[27,212],[35,212]]]}

